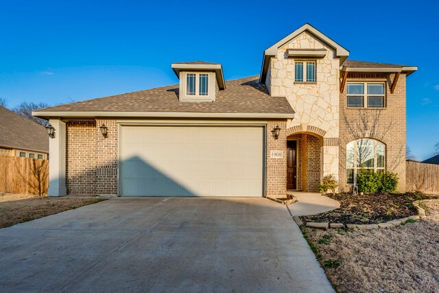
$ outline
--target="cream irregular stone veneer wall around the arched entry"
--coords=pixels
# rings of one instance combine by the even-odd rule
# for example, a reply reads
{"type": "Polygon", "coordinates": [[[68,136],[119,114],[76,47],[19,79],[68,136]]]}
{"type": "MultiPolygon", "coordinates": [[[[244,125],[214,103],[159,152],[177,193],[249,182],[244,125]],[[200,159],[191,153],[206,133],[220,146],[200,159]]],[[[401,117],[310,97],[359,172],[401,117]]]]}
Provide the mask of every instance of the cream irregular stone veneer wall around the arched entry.
{"type": "MultiPolygon", "coordinates": [[[[335,51],[308,32],[303,32],[278,49],[277,56],[270,60],[270,93],[272,96],[287,97],[296,111],[287,128],[296,132],[318,134],[324,139],[339,137],[340,105],[340,59],[334,58],[335,51]],[[325,49],[324,58],[291,58],[287,49],[325,49]],[[294,82],[296,60],[316,61],[316,82],[294,82]]],[[[290,134],[294,134],[290,132],[290,134]]],[[[321,176],[338,176],[338,143],[322,146],[321,176]]],[[[303,169],[303,167],[302,167],[303,169]]],[[[304,170],[303,170],[304,171],[304,170]]],[[[302,172],[302,187],[307,186],[305,172],[302,172]]],[[[320,180],[320,178],[319,178],[320,180]]],[[[311,179],[315,181],[315,178],[311,179]]],[[[313,186],[315,183],[313,183],[313,186]]]]}

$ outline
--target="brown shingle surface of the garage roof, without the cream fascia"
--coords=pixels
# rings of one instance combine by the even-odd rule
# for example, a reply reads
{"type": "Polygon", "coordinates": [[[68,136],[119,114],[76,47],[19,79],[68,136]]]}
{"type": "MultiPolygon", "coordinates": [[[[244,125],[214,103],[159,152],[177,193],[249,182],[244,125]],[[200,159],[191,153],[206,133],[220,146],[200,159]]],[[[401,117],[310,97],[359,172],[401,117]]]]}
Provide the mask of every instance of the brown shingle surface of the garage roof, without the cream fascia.
{"type": "Polygon", "coordinates": [[[179,102],[178,84],[89,99],[38,111],[294,113],[285,97],[271,97],[259,75],[226,82],[215,102],[179,102]]]}

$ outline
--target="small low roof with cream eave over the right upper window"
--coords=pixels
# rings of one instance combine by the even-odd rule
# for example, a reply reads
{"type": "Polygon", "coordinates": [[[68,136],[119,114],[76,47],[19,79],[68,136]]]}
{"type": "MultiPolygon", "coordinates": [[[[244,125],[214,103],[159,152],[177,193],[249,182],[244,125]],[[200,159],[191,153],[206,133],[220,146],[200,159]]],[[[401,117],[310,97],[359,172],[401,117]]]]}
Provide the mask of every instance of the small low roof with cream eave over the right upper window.
{"type": "Polygon", "coordinates": [[[406,72],[407,75],[410,75],[411,73],[414,73],[414,71],[418,70],[418,67],[357,60],[344,60],[341,65],[341,69],[346,71],[406,72]]]}

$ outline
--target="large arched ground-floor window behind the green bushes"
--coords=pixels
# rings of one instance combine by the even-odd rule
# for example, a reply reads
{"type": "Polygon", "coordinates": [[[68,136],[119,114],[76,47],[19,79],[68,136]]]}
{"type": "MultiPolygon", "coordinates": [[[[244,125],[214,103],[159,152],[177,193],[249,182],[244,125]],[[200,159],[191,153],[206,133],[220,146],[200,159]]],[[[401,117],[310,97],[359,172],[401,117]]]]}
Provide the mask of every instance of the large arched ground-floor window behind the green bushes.
{"type": "Polygon", "coordinates": [[[357,139],[346,145],[346,183],[354,183],[362,169],[383,172],[385,145],[375,139],[357,139]]]}

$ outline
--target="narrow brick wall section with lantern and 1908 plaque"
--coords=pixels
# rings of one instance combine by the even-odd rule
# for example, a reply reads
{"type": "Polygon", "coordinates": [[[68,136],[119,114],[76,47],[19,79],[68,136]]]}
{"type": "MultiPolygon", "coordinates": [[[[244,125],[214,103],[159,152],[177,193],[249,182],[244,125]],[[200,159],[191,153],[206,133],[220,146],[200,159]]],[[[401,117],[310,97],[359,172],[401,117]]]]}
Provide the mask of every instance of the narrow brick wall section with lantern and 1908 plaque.
{"type": "Polygon", "coordinates": [[[281,198],[287,191],[287,121],[268,121],[267,124],[267,186],[266,196],[281,198]],[[281,128],[278,139],[274,139],[271,130],[278,125],[281,128]],[[272,150],[283,151],[282,159],[270,158],[272,150]]]}

